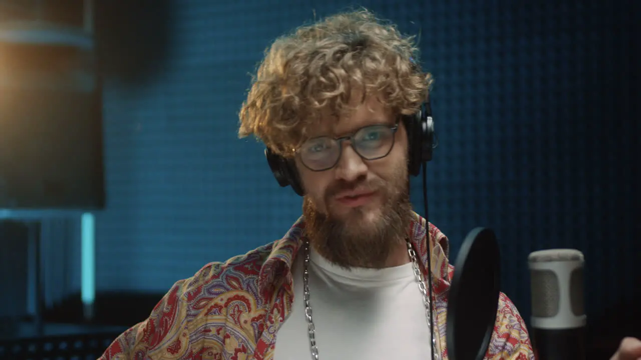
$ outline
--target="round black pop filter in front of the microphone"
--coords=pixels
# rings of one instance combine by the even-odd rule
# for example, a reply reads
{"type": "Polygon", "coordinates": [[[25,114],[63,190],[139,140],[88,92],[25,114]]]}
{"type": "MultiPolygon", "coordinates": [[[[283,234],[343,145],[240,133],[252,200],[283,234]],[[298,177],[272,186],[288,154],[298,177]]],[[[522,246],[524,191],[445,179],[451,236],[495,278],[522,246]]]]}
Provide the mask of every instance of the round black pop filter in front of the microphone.
{"type": "Polygon", "coordinates": [[[456,256],[447,300],[447,354],[480,360],[487,352],[501,291],[501,252],[494,231],[470,231],[456,256]]]}

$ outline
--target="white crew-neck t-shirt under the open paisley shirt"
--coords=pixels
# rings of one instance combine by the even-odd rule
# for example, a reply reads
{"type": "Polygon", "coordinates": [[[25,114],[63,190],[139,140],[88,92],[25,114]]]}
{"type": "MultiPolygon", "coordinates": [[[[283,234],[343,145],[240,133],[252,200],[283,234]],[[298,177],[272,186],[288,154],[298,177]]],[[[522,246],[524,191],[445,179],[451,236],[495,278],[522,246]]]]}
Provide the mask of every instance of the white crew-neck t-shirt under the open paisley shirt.
{"type": "MultiPolygon", "coordinates": [[[[292,266],[294,304],[276,334],[274,360],[311,359],[301,248],[292,266]]],[[[310,253],[310,306],[319,360],[429,359],[431,338],[412,263],[345,270],[310,253]]]]}

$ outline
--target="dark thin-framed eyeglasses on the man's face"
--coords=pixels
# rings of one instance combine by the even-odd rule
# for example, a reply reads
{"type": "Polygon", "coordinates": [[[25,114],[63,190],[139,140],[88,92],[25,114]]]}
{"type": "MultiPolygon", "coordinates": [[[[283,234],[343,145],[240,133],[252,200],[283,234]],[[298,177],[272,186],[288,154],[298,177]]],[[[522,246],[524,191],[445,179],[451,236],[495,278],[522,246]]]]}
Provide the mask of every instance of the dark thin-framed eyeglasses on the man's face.
{"type": "Polygon", "coordinates": [[[394,147],[395,133],[399,124],[370,125],[361,127],[353,135],[331,138],[319,136],[303,143],[296,151],[301,163],[312,171],[329,170],[337,165],[343,152],[342,143],[351,141],[351,146],[361,158],[377,160],[385,158],[394,147]]]}

